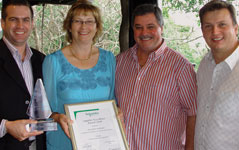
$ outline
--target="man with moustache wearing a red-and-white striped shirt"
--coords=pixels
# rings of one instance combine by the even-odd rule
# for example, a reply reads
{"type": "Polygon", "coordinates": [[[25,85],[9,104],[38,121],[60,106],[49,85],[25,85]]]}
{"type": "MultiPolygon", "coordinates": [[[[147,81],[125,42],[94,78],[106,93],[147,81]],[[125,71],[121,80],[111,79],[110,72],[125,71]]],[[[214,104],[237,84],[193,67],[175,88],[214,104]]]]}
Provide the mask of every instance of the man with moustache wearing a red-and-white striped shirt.
{"type": "Polygon", "coordinates": [[[117,56],[115,77],[115,95],[130,150],[192,150],[197,89],[194,68],[167,47],[157,6],[138,6],[132,27],[136,44],[117,56]]]}

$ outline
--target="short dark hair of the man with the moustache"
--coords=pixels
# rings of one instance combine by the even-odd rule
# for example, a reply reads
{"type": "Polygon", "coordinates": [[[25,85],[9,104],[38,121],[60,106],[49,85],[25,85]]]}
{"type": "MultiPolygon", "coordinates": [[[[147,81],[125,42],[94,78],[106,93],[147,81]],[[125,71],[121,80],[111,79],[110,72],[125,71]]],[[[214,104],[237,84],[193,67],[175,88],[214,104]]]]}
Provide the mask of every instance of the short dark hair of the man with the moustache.
{"type": "Polygon", "coordinates": [[[133,15],[132,15],[132,20],[131,20],[131,25],[132,27],[134,26],[134,19],[136,16],[143,16],[149,13],[153,13],[157,19],[158,24],[163,27],[164,21],[163,21],[163,14],[161,9],[154,5],[154,4],[142,4],[137,6],[134,9],[133,15]]]}

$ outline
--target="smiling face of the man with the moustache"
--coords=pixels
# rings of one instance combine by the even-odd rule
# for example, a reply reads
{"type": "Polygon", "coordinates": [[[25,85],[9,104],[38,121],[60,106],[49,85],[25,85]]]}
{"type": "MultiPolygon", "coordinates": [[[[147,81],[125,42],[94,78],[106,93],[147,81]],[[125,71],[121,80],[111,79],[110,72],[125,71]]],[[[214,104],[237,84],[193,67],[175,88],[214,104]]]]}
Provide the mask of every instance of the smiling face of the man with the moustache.
{"type": "Polygon", "coordinates": [[[139,50],[144,53],[151,53],[162,44],[163,28],[158,24],[153,13],[136,16],[133,30],[139,50]]]}

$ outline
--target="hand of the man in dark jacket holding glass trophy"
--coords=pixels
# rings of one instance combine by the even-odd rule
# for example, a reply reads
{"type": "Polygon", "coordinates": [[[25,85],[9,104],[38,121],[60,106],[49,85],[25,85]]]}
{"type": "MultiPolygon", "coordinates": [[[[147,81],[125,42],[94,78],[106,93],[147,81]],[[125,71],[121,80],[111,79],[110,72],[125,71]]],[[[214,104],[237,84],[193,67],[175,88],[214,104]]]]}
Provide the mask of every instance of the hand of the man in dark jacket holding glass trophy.
{"type": "Polygon", "coordinates": [[[43,131],[28,132],[26,130],[26,125],[31,123],[37,123],[37,121],[35,120],[6,121],[5,127],[7,133],[12,135],[17,140],[23,141],[31,136],[37,136],[43,133],[43,131]]]}

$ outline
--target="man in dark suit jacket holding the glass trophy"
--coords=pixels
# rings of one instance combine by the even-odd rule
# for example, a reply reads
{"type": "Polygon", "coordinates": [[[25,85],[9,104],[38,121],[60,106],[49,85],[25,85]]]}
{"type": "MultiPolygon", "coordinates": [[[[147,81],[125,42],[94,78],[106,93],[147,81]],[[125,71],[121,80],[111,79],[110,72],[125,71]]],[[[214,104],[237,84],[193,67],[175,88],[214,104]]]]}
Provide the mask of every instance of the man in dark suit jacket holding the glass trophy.
{"type": "Polygon", "coordinates": [[[25,0],[3,1],[0,40],[0,150],[45,150],[42,131],[28,132],[26,111],[33,86],[42,78],[44,54],[31,49],[33,10],[25,0]],[[32,141],[35,141],[31,144],[32,141]],[[36,146],[35,146],[36,145],[36,146]]]}

